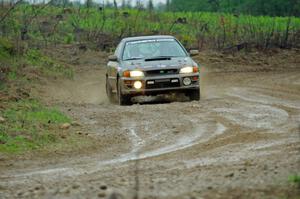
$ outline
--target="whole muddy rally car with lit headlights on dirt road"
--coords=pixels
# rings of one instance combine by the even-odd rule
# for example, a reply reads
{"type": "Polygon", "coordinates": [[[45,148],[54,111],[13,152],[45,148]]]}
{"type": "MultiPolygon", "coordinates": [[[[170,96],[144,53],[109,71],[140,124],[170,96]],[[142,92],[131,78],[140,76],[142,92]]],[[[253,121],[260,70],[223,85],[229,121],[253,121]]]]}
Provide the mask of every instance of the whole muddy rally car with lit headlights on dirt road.
{"type": "Polygon", "coordinates": [[[120,105],[139,95],[184,93],[200,99],[199,67],[172,36],[144,36],[123,39],[115,54],[109,56],[106,91],[120,105]]]}

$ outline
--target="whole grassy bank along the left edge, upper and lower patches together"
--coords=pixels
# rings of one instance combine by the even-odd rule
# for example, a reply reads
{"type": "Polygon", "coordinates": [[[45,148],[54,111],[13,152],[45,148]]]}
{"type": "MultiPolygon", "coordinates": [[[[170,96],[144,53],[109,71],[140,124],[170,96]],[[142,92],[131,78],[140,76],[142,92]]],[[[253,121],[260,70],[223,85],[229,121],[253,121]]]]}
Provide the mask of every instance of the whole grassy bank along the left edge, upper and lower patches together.
{"type": "Polygon", "coordinates": [[[5,119],[0,122],[0,153],[22,154],[47,148],[55,151],[78,144],[81,138],[60,129],[71,119],[32,99],[27,89],[31,80],[41,76],[72,78],[73,69],[38,49],[21,53],[16,49],[11,39],[0,37],[0,116],[5,119]]]}

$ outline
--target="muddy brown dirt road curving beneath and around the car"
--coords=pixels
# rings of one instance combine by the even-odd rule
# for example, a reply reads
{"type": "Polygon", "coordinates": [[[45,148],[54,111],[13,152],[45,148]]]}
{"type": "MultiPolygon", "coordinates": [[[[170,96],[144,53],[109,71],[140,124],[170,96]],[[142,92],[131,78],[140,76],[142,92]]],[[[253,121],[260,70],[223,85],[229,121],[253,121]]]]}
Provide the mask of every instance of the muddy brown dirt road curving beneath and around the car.
{"type": "Polygon", "coordinates": [[[299,68],[206,68],[200,102],[120,107],[90,63],[41,90],[100,138],[97,150],[3,167],[0,198],[296,198],[288,177],[300,171],[299,68]]]}

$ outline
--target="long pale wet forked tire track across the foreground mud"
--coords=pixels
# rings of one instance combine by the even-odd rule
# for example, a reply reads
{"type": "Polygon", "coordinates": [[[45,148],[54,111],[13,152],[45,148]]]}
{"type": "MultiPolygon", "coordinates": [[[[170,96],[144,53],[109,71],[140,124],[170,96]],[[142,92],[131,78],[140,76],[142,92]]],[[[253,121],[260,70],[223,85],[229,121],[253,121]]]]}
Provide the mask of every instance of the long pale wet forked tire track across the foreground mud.
{"type": "MultiPolygon", "coordinates": [[[[27,181],[26,178],[29,176],[37,176],[41,179],[55,179],[57,177],[63,176],[74,177],[77,175],[96,173],[100,170],[110,169],[107,167],[110,167],[112,165],[118,166],[128,161],[153,158],[193,147],[194,145],[206,142],[217,135],[221,135],[226,131],[227,128],[221,123],[203,123],[202,125],[198,125],[196,128],[192,129],[190,132],[185,132],[183,136],[180,136],[180,138],[175,139],[172,144],[162,145],[154,150],[149,151],[142,150],[143,146],[145,146],[146,141],[138,135],[137,125],[135,123],[131,123],[130,125],[124,124],[122,125],[122,129],[124,130],[124,132],[126,132],[126,134],[129,137],[129,140],[131,141],[132,150],[128,153],[121,154],[117,158],[109,160],[93,159],[91,160],[92,162],[89,162],[85,165],[76,166],[75,164],[73,165],[73,167],[68,167],[68,164],[66,164],[58,168],[32,171],[11,176],[3,176],[2,178],[18,178],[18,181],[20,180],[20,178],[24,178],[24,180],[27,181]]],[[[151,142],[149,143],[151,144],[151,142]]]]}

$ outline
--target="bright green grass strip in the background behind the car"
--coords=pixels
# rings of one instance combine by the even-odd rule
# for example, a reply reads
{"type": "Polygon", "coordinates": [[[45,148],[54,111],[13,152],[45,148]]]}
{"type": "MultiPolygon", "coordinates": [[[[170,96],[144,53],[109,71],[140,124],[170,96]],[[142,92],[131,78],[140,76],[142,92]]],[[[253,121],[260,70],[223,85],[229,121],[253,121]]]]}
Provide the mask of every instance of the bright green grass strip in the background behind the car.
{"type": "MultiPolygon", "coordinates": [[[[147,11],[138,13],[137,10],[121,10],[117,17],[114,17],[112,9],[107,9],[105,12],[105,22],[102,17],[103,13],[96,9],[92,9],[87,17],[74,13],[63,28],[71,30],[70,24],[74,23],[87,32],[96,32],[102,28],[103,32],[116,36],[121,35],[122,32],[129,35],[172,34],[186,46],[193,46],[196,45],[197,40],[204,40],[206,43],[210,41],[214,46],[226,47],[242,42],[263,45],[273,29],[270,42],[279,45],[285,38],[288,22],[288,18],[284,17],[247,15],[235,17],[231,14],[209,12],[163,12],[154,13],[152,17],[147,11]],[[129,13],[128,18],[122,16],[123,11],[129,13]],[[187,23],[177,23],[171,28],[173,22],[178,18],[186,18],[187,23]],[[102,26],[103,23],[104,26],[102,26]]],[[[85,13],[84,9],[82,13],[85,13]]],[[[291,32],[300,30],[300,19],[293,17],[290,28],[291,32]]]]}

